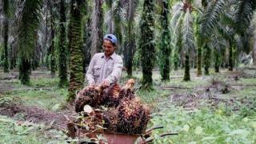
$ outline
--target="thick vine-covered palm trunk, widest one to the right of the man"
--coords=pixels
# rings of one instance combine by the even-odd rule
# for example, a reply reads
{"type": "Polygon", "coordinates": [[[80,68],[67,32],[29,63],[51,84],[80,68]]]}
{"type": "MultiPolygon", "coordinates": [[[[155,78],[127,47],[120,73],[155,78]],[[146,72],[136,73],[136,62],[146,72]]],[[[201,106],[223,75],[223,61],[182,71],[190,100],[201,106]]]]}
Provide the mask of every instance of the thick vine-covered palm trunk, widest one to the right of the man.
{"type": "Polygon", "coordinates": [[[150,89],[153,85],[152,70],[154,68],[154,3],[145,0],[140,21],[139,49],[142,62],[142,87],[150,89]]]}

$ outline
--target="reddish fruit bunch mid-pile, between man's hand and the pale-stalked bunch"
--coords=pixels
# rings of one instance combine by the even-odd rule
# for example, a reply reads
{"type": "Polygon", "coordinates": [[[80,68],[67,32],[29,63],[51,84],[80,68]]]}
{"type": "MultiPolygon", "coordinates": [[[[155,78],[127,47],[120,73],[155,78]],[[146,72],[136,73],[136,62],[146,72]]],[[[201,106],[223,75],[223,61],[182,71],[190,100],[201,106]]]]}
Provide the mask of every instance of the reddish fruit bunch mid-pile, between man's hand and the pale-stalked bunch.
{"type": "Polygon", "coordinates": [[[104,103],[107,106],[118,106],[122,98],[119,97],[120,86],[117,83],[111,84],[109,87],[103,90],[104,103]]]}

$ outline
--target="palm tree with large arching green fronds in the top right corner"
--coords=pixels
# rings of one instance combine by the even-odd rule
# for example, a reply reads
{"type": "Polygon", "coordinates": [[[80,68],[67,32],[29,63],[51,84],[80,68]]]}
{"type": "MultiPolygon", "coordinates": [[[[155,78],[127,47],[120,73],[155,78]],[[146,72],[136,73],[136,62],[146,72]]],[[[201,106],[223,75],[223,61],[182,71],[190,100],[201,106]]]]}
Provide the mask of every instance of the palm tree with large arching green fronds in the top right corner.
{"type": "MultiPolygon", "coordinates": [[[[204,13],[202,18],[202,32],[204,33],[204,38],[210,39],[214,30],[217,29],[230,43],[229,70],[233,70],[233,51],[238,47],[234,37],[236,35],[239,36],[239,38],[242,39],[242,47],[248,47],[249,38],[247,38],[248,34],[246,34],[246,31],[248,31],[255,9],[255,1],[218,0],[210,2],[204,13]]],[[[248,49],[245,51],[248,52],[248,49]]]]}

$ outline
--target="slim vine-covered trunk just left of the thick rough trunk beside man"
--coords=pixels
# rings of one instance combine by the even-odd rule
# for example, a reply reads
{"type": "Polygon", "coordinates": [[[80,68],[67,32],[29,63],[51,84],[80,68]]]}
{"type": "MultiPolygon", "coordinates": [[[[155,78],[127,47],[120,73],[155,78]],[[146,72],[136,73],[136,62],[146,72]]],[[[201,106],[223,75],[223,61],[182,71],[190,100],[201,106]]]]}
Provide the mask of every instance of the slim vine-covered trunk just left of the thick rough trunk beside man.
{"type": "Polygon", "coordinates": [[[60,2],[60,40],[59,40],[59,78],[60,81],[58,83],[59,87],[67,86],[67,66],[66,66],[66,10],[65,10],[65,1],[61,0],[60,2]]]}

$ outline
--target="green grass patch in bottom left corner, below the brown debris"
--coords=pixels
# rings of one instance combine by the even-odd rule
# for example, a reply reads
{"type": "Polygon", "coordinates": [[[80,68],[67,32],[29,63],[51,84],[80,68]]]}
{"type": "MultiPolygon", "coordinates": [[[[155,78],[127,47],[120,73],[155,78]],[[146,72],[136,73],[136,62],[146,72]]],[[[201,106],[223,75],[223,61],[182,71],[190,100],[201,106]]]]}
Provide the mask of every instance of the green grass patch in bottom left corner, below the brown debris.
{"type": "Polygon", "coordinates": [[[48,128],[43,125],[17,122],[0,115],[0,143],[44,144],[65,142],[65,134],[57,130],[46,130],[48,128]]]}

